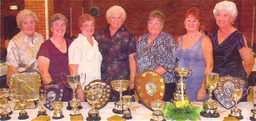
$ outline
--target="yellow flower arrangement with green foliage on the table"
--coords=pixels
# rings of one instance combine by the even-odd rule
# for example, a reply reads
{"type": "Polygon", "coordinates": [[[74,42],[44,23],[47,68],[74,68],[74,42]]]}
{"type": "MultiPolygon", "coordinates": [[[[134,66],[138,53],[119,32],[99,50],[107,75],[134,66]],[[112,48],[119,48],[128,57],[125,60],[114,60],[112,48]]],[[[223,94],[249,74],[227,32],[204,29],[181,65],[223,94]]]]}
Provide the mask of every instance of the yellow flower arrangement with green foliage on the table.
{"type": "Polygon", "coordinates": [[[190,104],[189,101],[177,101],[175,103],[167,104],[163,108],[163,117],[176,120],[176,121],[185,121],[185,120],[191,120],[191,121],[197,121],[200,119],[200,109],[197,106],[194,106],[190,104]]]}

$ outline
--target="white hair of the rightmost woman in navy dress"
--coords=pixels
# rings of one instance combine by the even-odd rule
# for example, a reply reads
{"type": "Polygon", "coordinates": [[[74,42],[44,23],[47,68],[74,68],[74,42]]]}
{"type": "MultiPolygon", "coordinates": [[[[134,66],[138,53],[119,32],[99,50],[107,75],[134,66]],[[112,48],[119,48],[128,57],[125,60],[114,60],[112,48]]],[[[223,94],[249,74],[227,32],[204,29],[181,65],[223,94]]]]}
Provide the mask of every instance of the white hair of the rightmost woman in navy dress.
{"type": "Polygon", "coordinates": [[[230,1],[222,1],[215,5],[213,9],[214,17],[216,17],[218,11],[226,10],[233,18],[237,17],[238,10],[236,4],[230,1]]]}

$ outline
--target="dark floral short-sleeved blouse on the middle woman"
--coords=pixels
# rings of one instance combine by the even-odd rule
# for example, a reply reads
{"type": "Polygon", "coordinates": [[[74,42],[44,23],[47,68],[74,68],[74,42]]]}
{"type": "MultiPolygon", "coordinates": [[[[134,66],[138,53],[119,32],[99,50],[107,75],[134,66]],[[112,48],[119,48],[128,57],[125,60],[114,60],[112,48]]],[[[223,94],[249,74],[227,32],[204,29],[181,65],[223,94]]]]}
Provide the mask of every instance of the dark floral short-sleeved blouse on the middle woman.
{"type": "Polygon", "coordinates": [[[122,25],[111,37],[109,27],[106,27],[98,31],[95,40],[102,55],[101,79],[129,79],[129,55],[136,52],[133,34],[122,25]]]}

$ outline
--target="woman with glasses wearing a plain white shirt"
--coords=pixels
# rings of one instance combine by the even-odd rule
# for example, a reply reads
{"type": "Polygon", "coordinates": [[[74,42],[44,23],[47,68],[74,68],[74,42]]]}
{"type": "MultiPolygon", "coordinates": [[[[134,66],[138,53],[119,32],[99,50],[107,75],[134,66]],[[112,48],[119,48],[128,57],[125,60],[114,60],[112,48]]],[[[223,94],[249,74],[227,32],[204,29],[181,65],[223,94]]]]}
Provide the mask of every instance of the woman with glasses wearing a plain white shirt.
{"type": "Polygon", "coordinates": [[[95,79],[101,79],[100,65],[102,56],[98,42],[94,39],[95,19],[90,14],[83,14],[78,19],[81,34],[69,46],[70,74],[80,75],[80,87],[76,89],[77,98],[85,101],[84,86],[95,79]],[[82,75],[81,75],[82,74],[82,75]],[[86,77],[83,76],[86,74],[86,77]],[[86,81],[85,81],[86,80],[86,81]]]}

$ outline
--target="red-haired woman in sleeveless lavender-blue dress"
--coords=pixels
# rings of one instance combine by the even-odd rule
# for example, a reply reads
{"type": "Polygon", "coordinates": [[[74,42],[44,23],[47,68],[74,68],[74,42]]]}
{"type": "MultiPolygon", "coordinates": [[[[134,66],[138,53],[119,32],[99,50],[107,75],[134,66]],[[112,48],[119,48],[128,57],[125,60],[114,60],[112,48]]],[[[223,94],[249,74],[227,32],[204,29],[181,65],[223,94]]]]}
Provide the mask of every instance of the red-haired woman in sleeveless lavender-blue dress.
{"type": "Polygon", "coordinates": [[[187,33],[178,38],[178,67],[193,68],[193,74],[184,80],[189,101],[202,101],[207,98],[203,74],[212,72],[213,49],[210,38],[199,32],[199,10],[191,7],[184,16],[187,33]]]}

